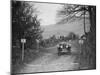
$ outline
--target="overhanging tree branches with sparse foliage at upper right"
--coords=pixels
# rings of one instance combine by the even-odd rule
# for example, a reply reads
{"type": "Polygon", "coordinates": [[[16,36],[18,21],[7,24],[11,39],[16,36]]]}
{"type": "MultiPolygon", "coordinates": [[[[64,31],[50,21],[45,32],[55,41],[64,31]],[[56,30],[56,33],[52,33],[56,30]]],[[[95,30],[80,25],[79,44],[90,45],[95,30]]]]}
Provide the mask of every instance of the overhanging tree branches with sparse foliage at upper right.
{"type": "Polygon", "coordinates": [[[58,17],[61,17],[62,20],[66,19],[66,21],[69,21],[73,19],[74,17],[81,18],[82,16],[88,16],[88,6],[84,5],[64,5],[61,10],[58,11],[57,15],[58,17]]]}

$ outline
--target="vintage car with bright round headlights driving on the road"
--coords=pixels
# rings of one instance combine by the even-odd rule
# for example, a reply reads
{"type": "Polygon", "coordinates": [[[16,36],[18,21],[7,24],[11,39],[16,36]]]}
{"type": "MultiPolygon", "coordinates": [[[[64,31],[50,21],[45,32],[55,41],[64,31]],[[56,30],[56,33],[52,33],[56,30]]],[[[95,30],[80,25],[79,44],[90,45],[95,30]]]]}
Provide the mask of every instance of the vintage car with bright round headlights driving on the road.
{"type": "Polygon", "coordinates": [[[57,46],[58,56],[62,54],[71,54],[71,44],[62,42],[57,46]]]}

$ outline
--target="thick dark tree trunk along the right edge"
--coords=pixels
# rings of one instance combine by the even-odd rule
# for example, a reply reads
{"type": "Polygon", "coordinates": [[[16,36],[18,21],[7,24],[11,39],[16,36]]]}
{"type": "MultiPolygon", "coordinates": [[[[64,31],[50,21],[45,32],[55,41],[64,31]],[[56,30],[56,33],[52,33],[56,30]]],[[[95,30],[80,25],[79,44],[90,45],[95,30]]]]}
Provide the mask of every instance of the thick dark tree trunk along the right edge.
{"type": "Polygon", "coordinates": [[[90,14],[90,32],[88,33],[89,51],[89,64],[96,67],[96,6],[89,6],[90,14]]]}

